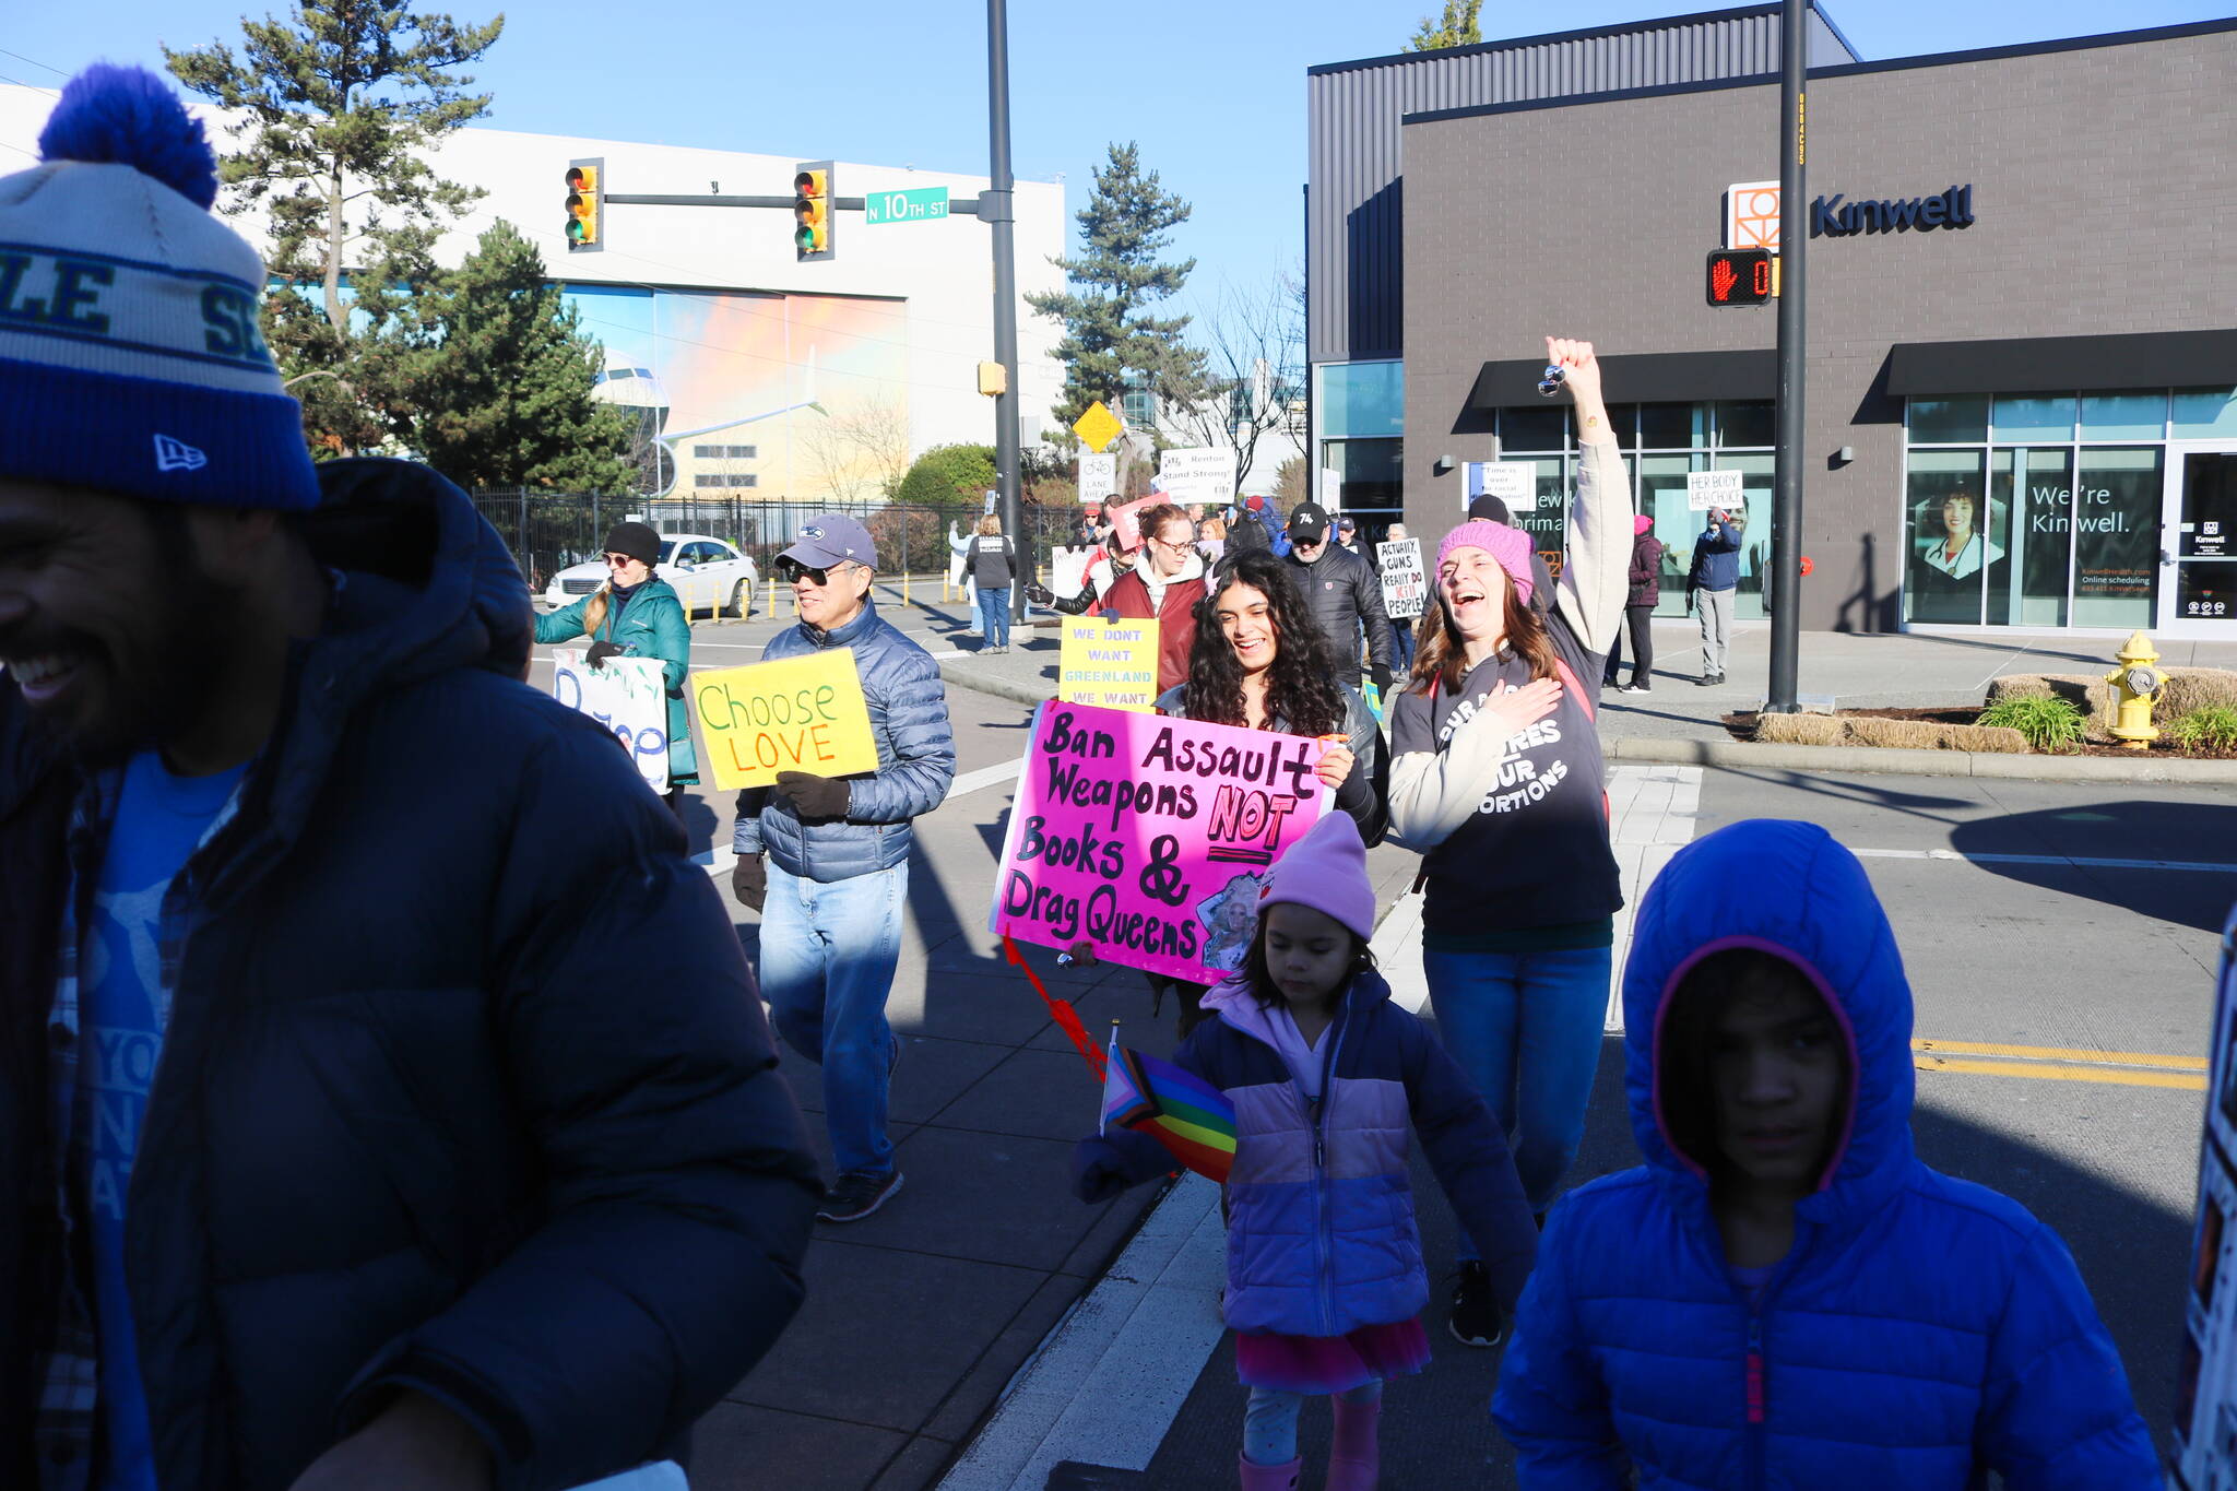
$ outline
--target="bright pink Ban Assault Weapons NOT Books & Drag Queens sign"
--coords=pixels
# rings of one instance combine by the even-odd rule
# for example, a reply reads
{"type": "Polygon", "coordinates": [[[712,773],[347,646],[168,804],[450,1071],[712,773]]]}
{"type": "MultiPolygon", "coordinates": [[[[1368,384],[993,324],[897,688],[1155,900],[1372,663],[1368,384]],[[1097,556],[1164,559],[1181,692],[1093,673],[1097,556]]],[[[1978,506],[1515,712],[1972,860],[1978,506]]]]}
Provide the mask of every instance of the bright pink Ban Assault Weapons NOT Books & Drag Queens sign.
{"type": "Polygon", "coordinates": [[[1320,753],[1302,735],[1042,704],[989,928],[1217,984],[1250,950],[1266,872],[1320,820],[1320,753]]]}

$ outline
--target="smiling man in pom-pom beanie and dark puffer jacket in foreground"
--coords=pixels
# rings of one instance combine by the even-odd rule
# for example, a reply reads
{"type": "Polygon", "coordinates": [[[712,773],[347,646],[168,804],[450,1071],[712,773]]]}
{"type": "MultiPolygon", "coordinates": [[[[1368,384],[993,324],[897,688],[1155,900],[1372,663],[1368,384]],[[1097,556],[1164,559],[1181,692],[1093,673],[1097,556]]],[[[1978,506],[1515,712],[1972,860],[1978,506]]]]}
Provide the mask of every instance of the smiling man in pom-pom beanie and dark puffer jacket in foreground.
{"type": "Polygon", "coordinates": [[[313,467],[136,69],[0,239],[0,1484],[539,1489],[676,1455],[799,1308],[736,934],[521,574],[313,467]],[[83,150],[87,159],[69,159],[83,150]]]}

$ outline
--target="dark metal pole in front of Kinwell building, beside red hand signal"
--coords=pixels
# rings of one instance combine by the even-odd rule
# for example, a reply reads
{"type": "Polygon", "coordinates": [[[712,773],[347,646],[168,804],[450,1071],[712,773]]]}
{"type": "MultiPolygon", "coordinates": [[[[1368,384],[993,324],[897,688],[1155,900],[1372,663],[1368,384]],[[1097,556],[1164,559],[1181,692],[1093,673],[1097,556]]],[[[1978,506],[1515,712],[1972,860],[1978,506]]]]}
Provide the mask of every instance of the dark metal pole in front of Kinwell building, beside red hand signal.
{"type": "Polygon", "coordinates": [[[1778,42],[1778,456],[1772,487],[1772,680],[1763,711],[1792,715],[1801,664],[1803,586],[1803,253],[1810,248],[1807,177],[1810,0],[1785,0],[1778,42]]]}

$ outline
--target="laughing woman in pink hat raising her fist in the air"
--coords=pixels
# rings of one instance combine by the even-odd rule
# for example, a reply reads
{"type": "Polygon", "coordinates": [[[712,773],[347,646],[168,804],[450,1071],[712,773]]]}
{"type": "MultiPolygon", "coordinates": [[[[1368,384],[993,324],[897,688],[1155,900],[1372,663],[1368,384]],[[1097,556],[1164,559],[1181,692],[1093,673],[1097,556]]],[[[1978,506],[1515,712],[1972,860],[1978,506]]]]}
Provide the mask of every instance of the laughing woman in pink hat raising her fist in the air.
{"type": "MultiPolygon", "coordinates": [[[[1454,528],[1391,713],[1391,834],[1425,852],[1423,970],[1438,1033],[1490,1100],[1539,1214],[1577,1156],[1599,1062],[1622,890],[1593,695],[1629,592],[1631,487],[1591,342],[1546,340],[1577,400],[1584,463],[1552,612],[1530,608],[1530,539],[1454,528]]],[[[1452,1335],[1499,1339],[1463,1245],[1452,1335]]]]}

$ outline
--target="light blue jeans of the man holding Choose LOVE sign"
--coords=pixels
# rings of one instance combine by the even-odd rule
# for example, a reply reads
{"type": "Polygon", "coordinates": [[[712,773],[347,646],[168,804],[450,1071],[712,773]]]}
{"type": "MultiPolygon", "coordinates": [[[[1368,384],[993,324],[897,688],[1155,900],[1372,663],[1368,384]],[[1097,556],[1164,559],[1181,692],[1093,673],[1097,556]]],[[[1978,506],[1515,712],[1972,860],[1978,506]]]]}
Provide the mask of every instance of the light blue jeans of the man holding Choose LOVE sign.
{"type": "Polygon", "coordinates": [[[823,1122],[841,1176],[890,1176],[886,995],[902,961],[908,865],[821,885],[770,861],[761,908],[761,993],[770,1024],[823,1066],[823,1122]]]}

